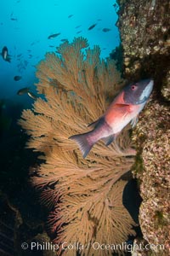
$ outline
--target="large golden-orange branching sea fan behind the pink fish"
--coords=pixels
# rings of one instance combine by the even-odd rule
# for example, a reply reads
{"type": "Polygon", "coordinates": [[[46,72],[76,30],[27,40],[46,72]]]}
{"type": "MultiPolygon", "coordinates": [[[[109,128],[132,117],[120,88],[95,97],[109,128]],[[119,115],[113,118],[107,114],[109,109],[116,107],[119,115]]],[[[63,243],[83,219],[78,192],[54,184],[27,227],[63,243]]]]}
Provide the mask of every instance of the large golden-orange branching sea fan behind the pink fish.
{"type": "Polygon", "coordinates": [[[95,250],[94,242],[116,245],[135,235],[133,219],[122,205],[126,182],[121,177],[134,161],[128,130],[109,147],[96,143],[86,160],[68,137],[87,131],[124,84],[115,61],[100,60],[99,47],[89,49],[86,39],[75,38],[57,50],[37,66],[37,91],[45,99],[37,98],[20,119],[31,136],[27,147],[42,152],[45,160],[31,181],[41,189],[42,201],[54,207],[48,224],[58,254],[66,242],[83,246],[64,249],[66,255],[77,255],[77,250],[111,255],[113,248],[95,250]]]}

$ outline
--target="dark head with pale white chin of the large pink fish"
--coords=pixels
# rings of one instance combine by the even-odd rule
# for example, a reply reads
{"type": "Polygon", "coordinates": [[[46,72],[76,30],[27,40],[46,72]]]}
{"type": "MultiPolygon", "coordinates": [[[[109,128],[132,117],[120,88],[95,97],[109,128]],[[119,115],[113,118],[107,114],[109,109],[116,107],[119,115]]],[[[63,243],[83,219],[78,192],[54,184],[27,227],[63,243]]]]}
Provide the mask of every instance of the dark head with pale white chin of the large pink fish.
{"type": "Polygon", "coordinates": [[[144,79],[134,84],[128,84],[123,89],[124,102],[133,105],[139,105],[146,102],[153,89],[153,85],[153,79],[144,79]]]}

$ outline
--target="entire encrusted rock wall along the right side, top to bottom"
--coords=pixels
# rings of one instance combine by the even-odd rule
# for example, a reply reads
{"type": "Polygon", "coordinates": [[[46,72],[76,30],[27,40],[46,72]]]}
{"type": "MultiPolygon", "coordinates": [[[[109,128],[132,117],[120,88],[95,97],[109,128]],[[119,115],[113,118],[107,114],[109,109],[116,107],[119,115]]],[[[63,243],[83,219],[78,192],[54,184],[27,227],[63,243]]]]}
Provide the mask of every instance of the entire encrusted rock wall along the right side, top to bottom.
{"type": "Polygon", "coordinates": [[[139,222],[147,242],[164,246],[163,250],[152,248],[153,255],[169,255],[170,3],[168,0],[117,0],[117,3],[123,75],[132,81],[148,77],[155,81],[153,96],[133,131],[138,149],[134,175],[139,179],[143,198],[139,222]]]}

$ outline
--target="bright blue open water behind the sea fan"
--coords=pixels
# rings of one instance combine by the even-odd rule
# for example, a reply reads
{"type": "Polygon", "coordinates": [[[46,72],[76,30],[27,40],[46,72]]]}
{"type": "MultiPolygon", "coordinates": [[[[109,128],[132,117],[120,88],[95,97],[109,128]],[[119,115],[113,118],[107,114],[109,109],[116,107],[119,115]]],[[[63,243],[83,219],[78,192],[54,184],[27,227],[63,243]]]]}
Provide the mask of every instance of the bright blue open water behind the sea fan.
{"type": "Polygon", "coordinates": [[[35,90],[35,65],[46,52],[55,51],[63,38],[70,42],[74,37],[88,38],[91,47],[94,44],[100,46],[102,58],[109,56],[120,42],[114,3],[114,0],[1,1],[0,51],[7,46],[11,63],[0,56],[0,100],[33,102],[27,95],[18,96],[17,91],[23,87],[35,90]],[[92,30],[88,30],[96,23],[92,30]],[[103,32],[103,28],[111,31],[103,32]],[[54,33],[60,35],[48,39],[54,33]],[[22,79],[14,81],[15,75],[21,75],[22,79]]]}

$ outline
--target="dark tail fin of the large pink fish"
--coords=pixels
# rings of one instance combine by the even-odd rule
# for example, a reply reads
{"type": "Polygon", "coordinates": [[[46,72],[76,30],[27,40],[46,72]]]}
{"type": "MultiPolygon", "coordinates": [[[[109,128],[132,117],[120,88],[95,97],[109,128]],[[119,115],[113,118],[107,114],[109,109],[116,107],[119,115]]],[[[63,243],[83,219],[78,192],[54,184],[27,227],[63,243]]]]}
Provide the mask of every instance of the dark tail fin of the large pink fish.
{"type": "Polygon", "coordinates": [[[82,151],[83,158],[85,158],[88,155],[89,151],[95,143],[90,139],[89,133],[90,131],[87,133],[77,134],[69,137],[69,139],[75,141],[78,144],[80,150],[82,151]]]}

